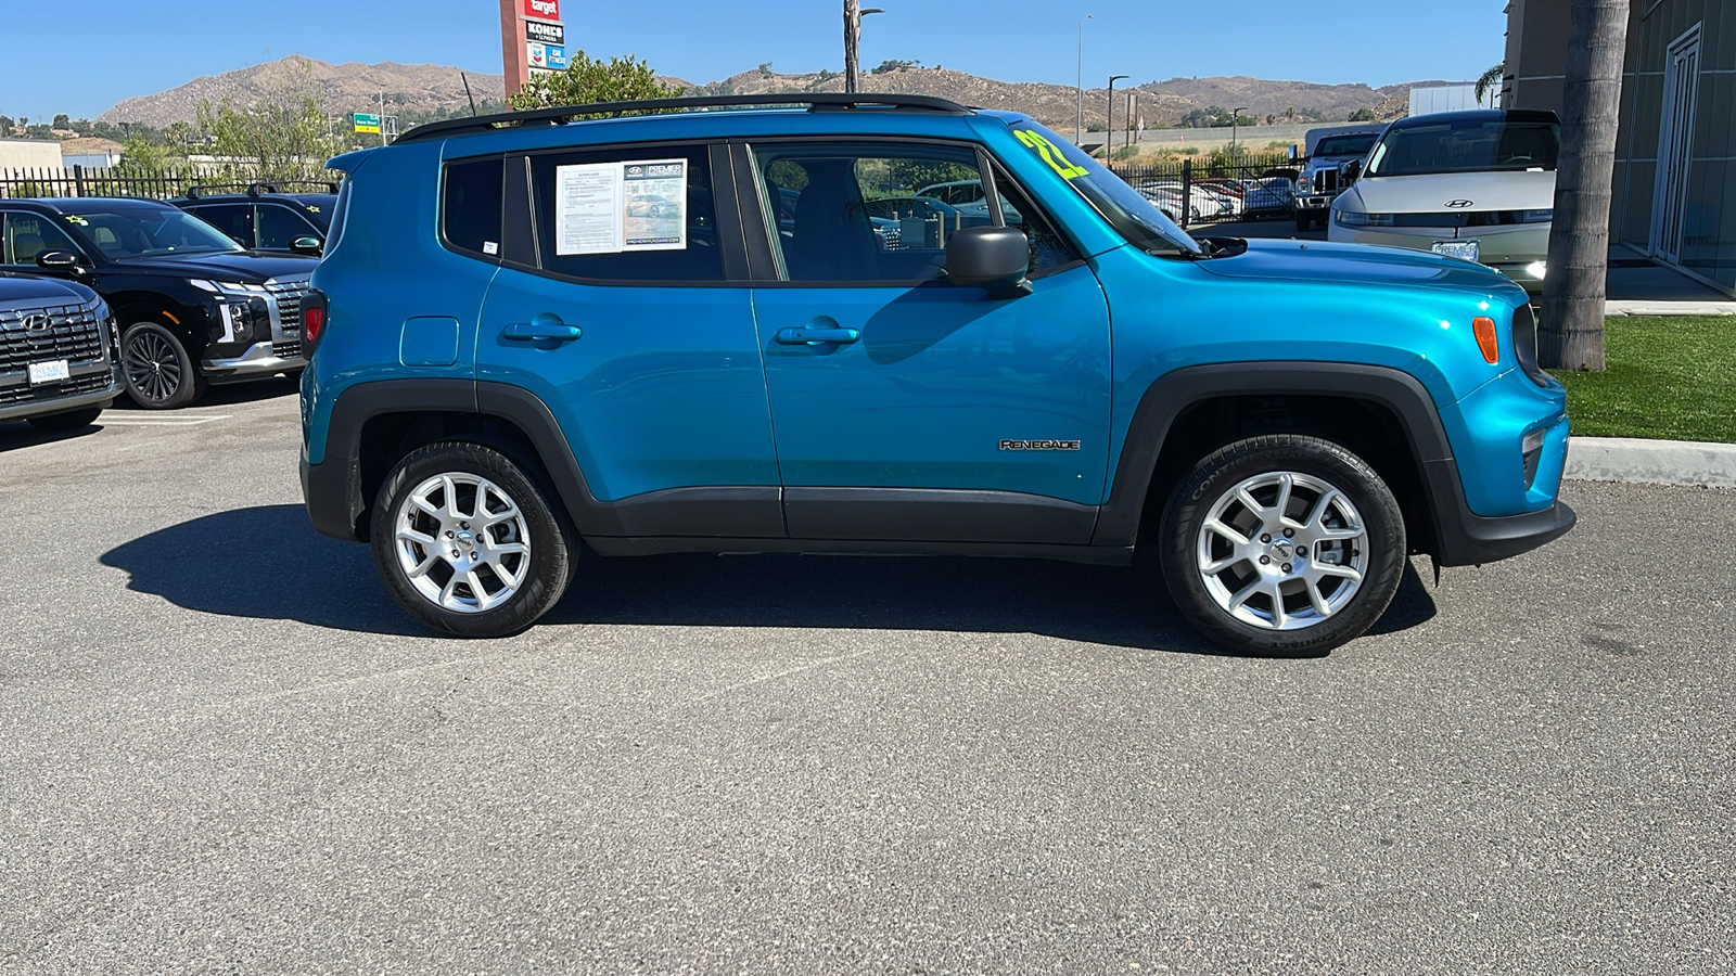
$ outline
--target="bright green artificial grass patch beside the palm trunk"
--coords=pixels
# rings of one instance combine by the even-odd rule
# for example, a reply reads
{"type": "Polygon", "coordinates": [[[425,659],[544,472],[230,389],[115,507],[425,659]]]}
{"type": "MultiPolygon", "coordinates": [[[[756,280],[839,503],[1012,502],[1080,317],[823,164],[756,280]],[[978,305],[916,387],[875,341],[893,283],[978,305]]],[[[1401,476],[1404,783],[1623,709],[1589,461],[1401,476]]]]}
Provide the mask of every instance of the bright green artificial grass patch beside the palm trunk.
{"type": "Polygon", "coordinates": [[[1575,434],[1736,443],[1736,316],[1611,316],[1604,365],[1550,370],[1575,434]]]}

